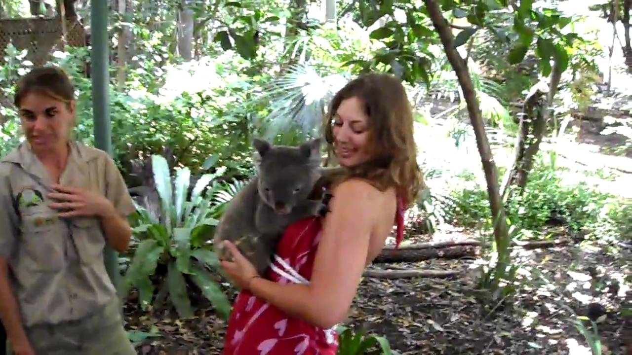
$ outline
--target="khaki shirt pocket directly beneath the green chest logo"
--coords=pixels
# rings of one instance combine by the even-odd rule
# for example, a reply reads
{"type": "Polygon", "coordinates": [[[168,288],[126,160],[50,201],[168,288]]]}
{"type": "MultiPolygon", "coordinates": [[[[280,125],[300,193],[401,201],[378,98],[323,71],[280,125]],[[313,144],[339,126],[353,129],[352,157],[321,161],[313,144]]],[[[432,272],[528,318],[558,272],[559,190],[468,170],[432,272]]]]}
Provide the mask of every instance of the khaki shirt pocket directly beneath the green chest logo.
{"type": "Polygon", "coordinates": [[[51,210],[22,216],[23,265],[35,272],[58,272],[66,263],[63,222],[51,210]]]}

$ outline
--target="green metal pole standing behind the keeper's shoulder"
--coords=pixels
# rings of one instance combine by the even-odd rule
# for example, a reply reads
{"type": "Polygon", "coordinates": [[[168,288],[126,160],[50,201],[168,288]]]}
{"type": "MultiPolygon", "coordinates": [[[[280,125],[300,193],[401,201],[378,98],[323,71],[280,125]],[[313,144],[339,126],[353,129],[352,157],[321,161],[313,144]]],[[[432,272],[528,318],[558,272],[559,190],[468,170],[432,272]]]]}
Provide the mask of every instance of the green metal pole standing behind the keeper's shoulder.
{"type": "MultiPolygon", "coordinates": [[[[94,116],[95,146],[112,154],[112,131],[109,111],[109,39],[107,36],[106,0],[90,3],[90,27],[92,38],[92,114],[94,116]]],[[[118,253],[106,244],[104,259],[107,274],[115,287],[119,285],[118,253]]]]}

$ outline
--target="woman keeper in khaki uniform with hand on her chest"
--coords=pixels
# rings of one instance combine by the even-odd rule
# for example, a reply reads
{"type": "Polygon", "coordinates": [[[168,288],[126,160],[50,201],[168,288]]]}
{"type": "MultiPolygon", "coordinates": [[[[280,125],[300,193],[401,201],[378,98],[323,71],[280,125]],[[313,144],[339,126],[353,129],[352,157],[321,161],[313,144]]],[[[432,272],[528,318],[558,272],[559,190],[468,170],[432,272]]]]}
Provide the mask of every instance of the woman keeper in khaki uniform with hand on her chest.
{"type": "Polygon", "coordinates": [[[135,207],[112,159],[71,140],[74,92],[55,67],[16,88],[27,141],[0,160],[0,318],[15,354],[131,355],[103,249],[127,248],[135,207]]]}

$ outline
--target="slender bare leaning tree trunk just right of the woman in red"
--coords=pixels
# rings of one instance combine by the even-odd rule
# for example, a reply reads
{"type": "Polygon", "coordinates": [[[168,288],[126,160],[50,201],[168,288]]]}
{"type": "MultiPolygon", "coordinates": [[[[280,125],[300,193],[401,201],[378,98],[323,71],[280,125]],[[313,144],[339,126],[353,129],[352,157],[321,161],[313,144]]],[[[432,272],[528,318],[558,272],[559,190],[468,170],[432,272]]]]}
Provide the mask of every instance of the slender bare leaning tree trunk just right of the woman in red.
{"type": "Polygon", "coordinates": [[[439,37],[441,38],[444,51],[446,51],[447,59],[458,77],[461,90],[463,90],[463,96],[470,114],[470,121],[476,135],[483,171],[485,171],[485,179],[487,180],[487,194],[492,212],[492,220],[494,221],[494,236],[499,257],[497,265],[499,268],[497,270],[505,270],[505,267],[509,265],[509,253],[507,251],[507,247],[509,246],[509,234],[507,233],[504,207],[499,193],[498,172],[494,164],[494,157],[492,157],[487,135],[485,134],[485,126],[478,98],[470,78],[467,64],[453,47],[454,37],[446,19],[442,15],[439,5],[435,0],[423,0],[423,2],[426,4],[428,15],[434,27],[437,32],[439,32],[439,37]]]}

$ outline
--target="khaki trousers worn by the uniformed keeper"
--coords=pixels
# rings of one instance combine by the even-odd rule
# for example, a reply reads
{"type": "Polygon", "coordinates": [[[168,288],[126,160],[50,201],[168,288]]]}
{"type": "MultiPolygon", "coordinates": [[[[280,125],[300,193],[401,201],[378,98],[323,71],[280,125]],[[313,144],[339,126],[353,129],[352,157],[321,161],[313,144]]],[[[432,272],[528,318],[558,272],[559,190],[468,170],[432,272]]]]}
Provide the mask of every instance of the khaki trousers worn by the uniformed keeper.
{"type": "Polygon", "coordinates": [[[26,329],[35,355],[136,355],[114,298],[104,308],[80,320],[34,325],[26,329]]]}

